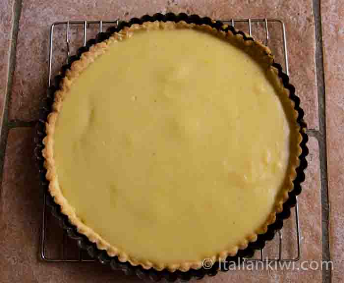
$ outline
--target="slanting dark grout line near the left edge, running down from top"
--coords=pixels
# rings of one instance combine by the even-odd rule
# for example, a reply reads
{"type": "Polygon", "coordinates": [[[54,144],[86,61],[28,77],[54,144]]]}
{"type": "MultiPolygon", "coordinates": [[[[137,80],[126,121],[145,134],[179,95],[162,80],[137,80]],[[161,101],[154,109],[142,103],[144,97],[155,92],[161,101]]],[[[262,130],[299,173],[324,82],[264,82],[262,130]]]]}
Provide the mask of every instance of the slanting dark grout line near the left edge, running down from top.
{"type": "Polygon", "coordinates": [[[5,159],[5,151],[7,145],[8,136],[8,105],[10,102],[10,96],[12,91],[12,77],[16,64],[16,53],[17,53],[17,38],[19,31],[19,20],[22,12],[22,0],[15,0],[13,5],[13,25],[12,25],[12,35],[11,35],[11,45],[9,50],[9,66],[8,66],[8,76],[7,76],[7,91],[5,96],[5,105],[2,117],[2,127],[1,131],[1,141],[0,141],[0,197],[1,197],[1,186],[3,177],[3,165],[5,159]]]}

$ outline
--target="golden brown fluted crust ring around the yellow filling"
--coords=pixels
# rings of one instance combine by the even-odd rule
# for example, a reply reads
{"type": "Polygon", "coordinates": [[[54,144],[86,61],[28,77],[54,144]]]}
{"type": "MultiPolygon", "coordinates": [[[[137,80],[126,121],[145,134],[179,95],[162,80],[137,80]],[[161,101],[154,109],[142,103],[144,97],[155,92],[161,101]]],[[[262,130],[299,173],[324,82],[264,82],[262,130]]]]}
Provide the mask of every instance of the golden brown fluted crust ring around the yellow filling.
{"type": "Polygon", "coordinates": [[[259,43],[258,41],[244,40],[241,34],[234,35],[231,31],[224,32],[218,31],[215,28],[211,28],[207,25],[195,25],[187,24],[183,21],[174,23],[174,22],[146,22],[142,25],[134,24],[130,28],[123,28],[119,32],[114,33],[108,40],[98,43],[92,46],[88,52],[82,54],[81,58],[78,61],[72,63],[71,68],[66,71],[65,77],[62,79],[60,84],[60,90],[55,93],[55,100],[53,104],[53,111],[48,115],[48,121],[46,123],[46,134],[43,143],[45,148],[42,153],[45,158],[44,166],[47,169],[46,178],[50,181],[49,183],[49,192],[54,197],[54,200],[61,207],[61,212],[68,216],[69,221],[75,225],[78,231],[87,236],[87,238],[96,243],[98,249],[106,250],[110,256],[118,256],[118,259],[121,262],[129,261],[132,265],[142,265],[143,268],[149,269],[151,267],[162,270],[164,268],[169,269],[170,271],[181,270],[187,271],[190,268],[199,269],[201,268],[202,261],[197,262],[180,262],[178,264],[159,264],[157,262],[151,262],[149,260],[138,261],[135,258],[129,257],[125,251],[122,251],[115,246],[110,245],[106,242],[99,234],[93,231],[90,227],[83,224],[82,220],[78,218],[73,207],[71,207],[68,201],[63,197],[60,187],[58,185],[58,176],[55,167],[54,160],[54,132],[57,116],[61,110],[61,106],[64,100],[64,97],[68,95],[70,85],[73,81],[79,76],[83,70],[87,68],[98,56],[101,56],[107,51],[109,46],[117,41],[124,40],[133,35],[135,30],[148,30],[148,29],[172,29],[172,28],[197,28],[207,32],[211,32],[214,35],[220,36],[230,43],[238,46],[239,48],[245,50],[252,57],[257,59],[259,63],[267,70],[267,75],[269,76],[272,84],[275,86],[277,93],[280,95],[280,98],[285,107],[285,111],[288,116],[290,124],[290,156],[289,156],[289,165],[287,169],[287,176],[284,182],[283,189],[281,190],[280,195],[277,197],[274,211],[268,216],[265,223],[256,231],[253,231],[252,234],[248,235],[245,239],[239,242],[236,246],[230,247],[227,250],[222,251],[216,255],[210,257],[210,259],[215,262],[216,260],[225,259],[228,255],[236,255],[238,249],[245,249],[249,242],[254,242],[257,240],[258,234],[265,233],[267,231],[268,225],[276,221],[276,214],[283,210],[283,203],[288,199],[288,192],[292,191],[293,183],[292,180],[296,177],[295,169],[299,165],[299,155],[301,154],[301,147],[299,146],[302,137],[299,134],[300,127],[296,122],[297,112],[294,110],[293,102],[288,98],[288,90],[284,87],[282,79],[277,75],[277,69],[272,66],[273,57],[270,50],[259,43]]]}

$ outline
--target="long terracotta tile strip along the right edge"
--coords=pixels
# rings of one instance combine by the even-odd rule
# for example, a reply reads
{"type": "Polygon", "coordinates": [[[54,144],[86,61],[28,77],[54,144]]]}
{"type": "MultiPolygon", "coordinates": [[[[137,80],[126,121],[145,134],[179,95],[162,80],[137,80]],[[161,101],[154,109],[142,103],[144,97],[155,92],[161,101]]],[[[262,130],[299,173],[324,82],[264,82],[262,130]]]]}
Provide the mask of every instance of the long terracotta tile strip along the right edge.
{"type": "Polygon", "coordinates": [[[321,1],[332,282],[344,281],[344,3],[321,1]]]}

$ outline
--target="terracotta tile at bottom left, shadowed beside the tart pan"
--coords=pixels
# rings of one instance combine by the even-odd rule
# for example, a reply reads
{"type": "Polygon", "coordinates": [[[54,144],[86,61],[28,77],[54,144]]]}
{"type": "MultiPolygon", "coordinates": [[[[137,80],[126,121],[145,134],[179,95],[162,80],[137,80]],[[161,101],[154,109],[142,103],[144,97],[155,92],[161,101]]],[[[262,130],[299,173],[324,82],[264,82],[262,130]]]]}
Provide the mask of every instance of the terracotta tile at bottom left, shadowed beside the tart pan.
{"type": "Polygon", "coordinates": [[[33,131],[9,132],[0,195],[0,282],[139,282],[100,263],[39,260],[42,193],[33,155],[33,131]]]}

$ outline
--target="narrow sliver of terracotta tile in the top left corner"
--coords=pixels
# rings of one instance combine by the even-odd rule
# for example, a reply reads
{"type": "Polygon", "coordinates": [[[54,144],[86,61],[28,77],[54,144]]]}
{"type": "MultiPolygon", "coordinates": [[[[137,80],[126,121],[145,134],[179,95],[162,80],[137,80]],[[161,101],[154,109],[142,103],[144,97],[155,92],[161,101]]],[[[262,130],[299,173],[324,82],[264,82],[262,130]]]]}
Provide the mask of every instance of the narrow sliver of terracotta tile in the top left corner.
{"type": "Polygon", "coordinates": [[[6,101],[14,0],[0,2],[0,130],[6,101]]]}

